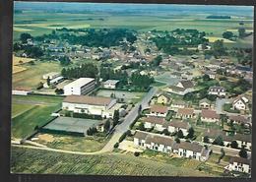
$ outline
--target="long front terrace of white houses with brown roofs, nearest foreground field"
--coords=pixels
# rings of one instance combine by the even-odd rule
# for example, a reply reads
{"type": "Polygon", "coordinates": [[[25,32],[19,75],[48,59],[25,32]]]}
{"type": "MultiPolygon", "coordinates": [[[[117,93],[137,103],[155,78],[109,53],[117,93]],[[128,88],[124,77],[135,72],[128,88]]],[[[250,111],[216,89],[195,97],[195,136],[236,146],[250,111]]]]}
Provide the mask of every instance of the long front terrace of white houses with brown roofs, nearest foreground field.
{"type": "Polygon", "coordinates": [[[198,143],[176,143],[171,137],[142,131],[136,131],[134,145],[144,150],[174,153],[180,157],[194,158],[202,161],[207,160],[210,154],[210,150],[198,143]]]}

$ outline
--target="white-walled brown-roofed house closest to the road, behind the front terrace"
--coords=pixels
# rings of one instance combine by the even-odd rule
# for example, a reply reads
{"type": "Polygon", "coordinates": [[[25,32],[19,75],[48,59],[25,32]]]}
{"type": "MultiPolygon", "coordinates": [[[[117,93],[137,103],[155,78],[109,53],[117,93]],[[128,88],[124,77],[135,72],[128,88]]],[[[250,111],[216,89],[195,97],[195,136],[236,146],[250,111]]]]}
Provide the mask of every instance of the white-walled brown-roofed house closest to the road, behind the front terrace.
{"type": "Polygon", "coordinates": [[[157,131],[162,131],[164,130],[163,124],[165,123],[165,119],[163,117],[156,117],[156,116],[149,116],[143,119],[144,122],[144,127],[149,129],[149,128],[154,128],[157,131]]]}

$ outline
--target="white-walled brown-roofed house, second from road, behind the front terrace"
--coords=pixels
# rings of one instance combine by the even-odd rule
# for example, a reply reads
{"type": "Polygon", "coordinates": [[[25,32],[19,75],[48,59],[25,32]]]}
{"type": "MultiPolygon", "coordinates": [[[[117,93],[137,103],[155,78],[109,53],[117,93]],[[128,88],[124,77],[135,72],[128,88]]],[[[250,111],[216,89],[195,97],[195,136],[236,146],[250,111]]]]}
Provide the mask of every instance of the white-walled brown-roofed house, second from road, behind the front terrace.
{"type": "Polygon", "coordinates": [[[171,122],[165,122],[163,127],[167,128],[168,132],[170,133],[178,132],[179,130],[181,130],[183,135],[187,136],[190,125],[188,122],[172,120],[171,122]]]}

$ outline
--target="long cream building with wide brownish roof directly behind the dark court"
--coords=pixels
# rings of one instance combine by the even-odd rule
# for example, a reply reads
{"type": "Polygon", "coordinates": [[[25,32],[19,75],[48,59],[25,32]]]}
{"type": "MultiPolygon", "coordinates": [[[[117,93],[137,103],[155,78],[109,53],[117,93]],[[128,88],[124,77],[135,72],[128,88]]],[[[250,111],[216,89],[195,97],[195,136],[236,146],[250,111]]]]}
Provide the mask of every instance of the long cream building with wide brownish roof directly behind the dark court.
{"type": "Polygon", "coordinates": [[[76,113],[99,115],[103,118],[112,118],[116,99],[101,96],[68,95],[63,99],[62,109],[76,113]]]}

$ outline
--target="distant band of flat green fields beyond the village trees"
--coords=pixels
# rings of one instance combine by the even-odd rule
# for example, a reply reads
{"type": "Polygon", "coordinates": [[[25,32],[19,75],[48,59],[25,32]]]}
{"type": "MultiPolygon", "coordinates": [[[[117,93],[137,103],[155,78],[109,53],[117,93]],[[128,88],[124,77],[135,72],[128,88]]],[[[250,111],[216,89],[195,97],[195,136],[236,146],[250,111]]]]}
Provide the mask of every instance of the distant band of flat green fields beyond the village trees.
{"type": "Polygon", "coordinates": [[[122,28],[140,31],[197,29],[206,31],[211,36],[222,37],[225,30],[237,30],[239,22],[245,23],[247,30],[253,30],[253,21],[247,18],[233,18],[230,20],[206,19],[207,15],[131,15],[108,13],[47,13],[25,11],[15,15],[14,39],[18,39],[22,30],[30,31],[32,35],[50,32],[53,29],[109,29],[122,28]],[[140,19],[138,19],[138,16],[140,19]],[[32,17],[32,19],[30,19],[32,17]],[[28,24],[28,21],[30,24],[28,24]],[[26,24],[25,24],[26,23],[26,24]]]}

